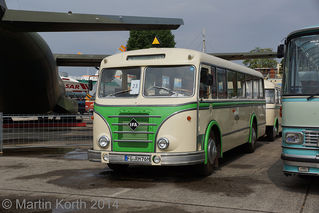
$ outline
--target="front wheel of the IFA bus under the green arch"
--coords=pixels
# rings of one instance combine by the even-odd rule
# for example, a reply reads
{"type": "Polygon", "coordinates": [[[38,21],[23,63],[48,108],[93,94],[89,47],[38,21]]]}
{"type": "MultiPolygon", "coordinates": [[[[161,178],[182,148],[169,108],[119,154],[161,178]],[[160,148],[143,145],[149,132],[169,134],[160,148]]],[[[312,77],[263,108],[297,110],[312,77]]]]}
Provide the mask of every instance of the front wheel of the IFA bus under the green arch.
{"type": "Polygon", "coordinates": [[[215,135],[211,133],[207,144],[207,163],[197,165],[197,174],[200,176],[207,177],[213,172],[218,154],[215,141],[215,135]]]}

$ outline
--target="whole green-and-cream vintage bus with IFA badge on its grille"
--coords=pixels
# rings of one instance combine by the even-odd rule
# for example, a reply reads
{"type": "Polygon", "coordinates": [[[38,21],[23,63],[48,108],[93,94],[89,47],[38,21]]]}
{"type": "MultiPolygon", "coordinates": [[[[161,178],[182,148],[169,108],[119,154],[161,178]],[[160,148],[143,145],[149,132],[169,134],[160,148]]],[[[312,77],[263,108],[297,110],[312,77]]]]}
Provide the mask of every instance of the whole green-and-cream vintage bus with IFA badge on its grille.
{"type": "Polygon", "coordinates": [[[119,53],[101,62],[88,159],[112,170],[197,164],[208,176],[224,152],[254,152],[265,112],[258,71],[190,49],[119,53]]]}

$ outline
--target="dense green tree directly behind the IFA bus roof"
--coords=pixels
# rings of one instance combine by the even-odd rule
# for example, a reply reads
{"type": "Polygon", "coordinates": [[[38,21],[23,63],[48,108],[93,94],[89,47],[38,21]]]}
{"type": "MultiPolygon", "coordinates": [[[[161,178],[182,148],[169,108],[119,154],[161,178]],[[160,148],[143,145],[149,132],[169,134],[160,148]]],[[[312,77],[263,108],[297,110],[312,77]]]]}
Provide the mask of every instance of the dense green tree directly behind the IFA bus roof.
{"type": "Polygon", "coordinates": [[[160,47],[175,47],[175,35],[171,30],[137,30],[130,31],[130,37],[127,42],[127,50],[151,48],[155,36],[160,38],[160,47]]]}

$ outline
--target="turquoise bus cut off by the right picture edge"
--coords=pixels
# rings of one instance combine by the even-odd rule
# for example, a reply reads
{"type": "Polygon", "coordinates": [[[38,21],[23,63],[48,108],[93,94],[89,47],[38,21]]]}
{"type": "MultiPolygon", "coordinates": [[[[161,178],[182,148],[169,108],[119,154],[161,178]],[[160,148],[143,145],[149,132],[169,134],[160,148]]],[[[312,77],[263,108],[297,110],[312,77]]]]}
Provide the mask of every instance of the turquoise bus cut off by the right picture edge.
{"type": "Polygon", "coordinates": [[[319,175],[319,25],[291,32],[278,46],[284,174],[319,175]],[[286,44],[286,51],[285,51],[286,44]]]}

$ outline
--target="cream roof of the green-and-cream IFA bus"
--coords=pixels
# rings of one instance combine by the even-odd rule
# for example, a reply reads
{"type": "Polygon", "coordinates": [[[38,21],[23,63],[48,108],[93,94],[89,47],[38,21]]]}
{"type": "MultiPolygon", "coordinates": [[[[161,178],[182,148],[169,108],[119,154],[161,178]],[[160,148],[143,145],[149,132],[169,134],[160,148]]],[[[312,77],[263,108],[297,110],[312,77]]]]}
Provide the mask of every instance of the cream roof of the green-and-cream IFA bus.
{"type": "Polygon", "coordinates": [[[245,72],[263,78],[263,75],[253,69],[239,65],[203,52],[182,48],[149,48],[131,50],[106,57],[101,62],[101,68],[149,65],[190,65],[210,63],[218,67],[225,67],[235,71],[245,72]],[[105,60],[106,59],[106,60],[105,60]],[[105,62],[107,61],[107,62],[105,62]]]}

